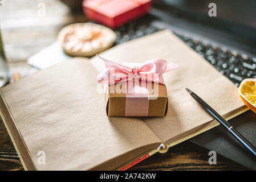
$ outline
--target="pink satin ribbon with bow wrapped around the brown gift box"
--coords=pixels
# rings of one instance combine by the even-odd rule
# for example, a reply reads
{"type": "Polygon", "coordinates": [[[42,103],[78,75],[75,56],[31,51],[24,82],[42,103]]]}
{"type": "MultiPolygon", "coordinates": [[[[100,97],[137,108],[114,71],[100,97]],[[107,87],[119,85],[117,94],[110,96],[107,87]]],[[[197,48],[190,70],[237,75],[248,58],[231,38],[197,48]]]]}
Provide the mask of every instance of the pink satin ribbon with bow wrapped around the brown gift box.
{"type": "Polygon", "coordinates": [[[134,64],[133,67],[127,67],[97,56],[104,61],[107,68],[97,76],[97,82],[105,85],[105,88],[117,82],[126,82],[125,116],[147,116],[149,106],[147,83],[164,84],[162,75],[180,68],[179,65],[168,63],[163,59],[152,59],[140,66],[134,64]],[[128,90],[129,81],[132,81],[131,93],[128,90]]]}

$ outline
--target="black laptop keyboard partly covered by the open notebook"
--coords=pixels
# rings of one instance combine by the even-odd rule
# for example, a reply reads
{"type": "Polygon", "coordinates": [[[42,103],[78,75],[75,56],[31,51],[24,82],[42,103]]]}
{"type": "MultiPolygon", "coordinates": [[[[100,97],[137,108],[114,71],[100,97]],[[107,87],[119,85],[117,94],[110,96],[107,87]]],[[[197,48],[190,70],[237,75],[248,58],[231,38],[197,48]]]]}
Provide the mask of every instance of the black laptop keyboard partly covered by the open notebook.
{"type": "MultiPolygon", "coordinates": [[[[152,18],[144,16],[116,28],[114,30],[117,35],[115,44],[160,31],[160,28],[152,26],[151,21],[152,18]]],[[[176,33],[174,32],[174,34],[176,33]]],[[[239,86],[244,78],[256,78],[256,56],[250,57],[229,49],[204,44],[184,35],[176,35],[209,61],[219,72],[233,81],[236,86],[239,86]]]]}

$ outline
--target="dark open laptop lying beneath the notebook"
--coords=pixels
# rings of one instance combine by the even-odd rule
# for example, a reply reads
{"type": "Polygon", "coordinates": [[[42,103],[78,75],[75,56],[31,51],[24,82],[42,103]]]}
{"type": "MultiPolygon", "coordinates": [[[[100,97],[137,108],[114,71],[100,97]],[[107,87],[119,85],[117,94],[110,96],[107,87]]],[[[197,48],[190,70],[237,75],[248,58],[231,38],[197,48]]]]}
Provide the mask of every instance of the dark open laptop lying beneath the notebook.
{"type": "MultiPolygon", "coordinates": [[[[254,0],[155,0],[148,15],[114,30],[116,44],[168,28],[239,86],[244,78],[256,78],[255,7],[254,0]],[[216,16],[209,16],[210,3],[216,5],[216,16]]],[[[255,113],[247,111],[230,122],[256,146],[255,113]]],[[[254,156],[222,126],[190,141],[256,169],[254,156]]]]}

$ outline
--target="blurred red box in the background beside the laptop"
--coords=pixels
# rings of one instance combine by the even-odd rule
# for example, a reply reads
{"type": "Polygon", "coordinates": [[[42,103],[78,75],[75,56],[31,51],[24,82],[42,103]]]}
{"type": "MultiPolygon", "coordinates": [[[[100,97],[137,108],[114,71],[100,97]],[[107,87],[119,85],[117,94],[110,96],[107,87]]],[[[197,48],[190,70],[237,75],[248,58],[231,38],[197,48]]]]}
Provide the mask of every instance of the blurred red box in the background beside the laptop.
{"type": "Polygon", "coordinates": [[[88,18],[115,28],[148,13],[151,0],[85,0],[84,13],[88,18]]]}

